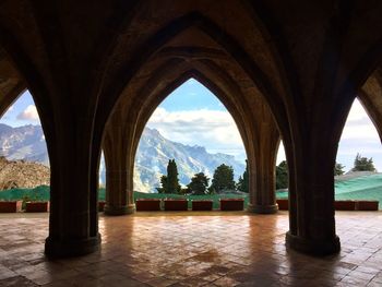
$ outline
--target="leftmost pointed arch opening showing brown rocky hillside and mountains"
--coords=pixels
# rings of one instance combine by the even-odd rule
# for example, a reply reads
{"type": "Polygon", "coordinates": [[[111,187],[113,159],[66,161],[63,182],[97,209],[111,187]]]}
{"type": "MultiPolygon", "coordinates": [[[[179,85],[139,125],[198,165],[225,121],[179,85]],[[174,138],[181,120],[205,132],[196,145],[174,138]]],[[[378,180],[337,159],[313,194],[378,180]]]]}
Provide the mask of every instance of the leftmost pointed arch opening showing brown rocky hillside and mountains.
{"type": "Polygon", "coordinates": [[[0,110],[0,200],[49,201],[50,163],[38,111],[25,89],[0,110]]]}

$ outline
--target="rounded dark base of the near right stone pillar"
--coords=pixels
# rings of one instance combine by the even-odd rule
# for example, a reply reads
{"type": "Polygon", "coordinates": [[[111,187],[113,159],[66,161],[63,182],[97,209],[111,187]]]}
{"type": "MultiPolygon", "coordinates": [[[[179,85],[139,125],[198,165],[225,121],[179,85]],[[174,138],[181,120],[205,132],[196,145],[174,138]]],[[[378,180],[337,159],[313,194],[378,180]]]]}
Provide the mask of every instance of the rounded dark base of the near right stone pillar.
{"type": "Polygon", "coordinates": [[[311,255],[329,255],[341,250],[339,238],[335,236],[333,240],[310,240],[294,236],[288,231],[285,236],[285,244],[294,250],[311,255]]]}

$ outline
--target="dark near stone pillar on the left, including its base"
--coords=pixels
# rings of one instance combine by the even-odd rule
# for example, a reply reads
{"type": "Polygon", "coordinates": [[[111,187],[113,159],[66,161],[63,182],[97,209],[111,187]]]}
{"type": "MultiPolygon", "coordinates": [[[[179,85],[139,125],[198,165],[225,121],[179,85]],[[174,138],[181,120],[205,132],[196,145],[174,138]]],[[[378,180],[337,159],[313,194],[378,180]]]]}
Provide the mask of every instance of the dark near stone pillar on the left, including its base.
{"type": "Polygon", "coordinates": [[[94,201],[89,199],[97,194],[92,190],[97,184],[91,184],[91,178],[95,178],[91,172],[97,170],[97,160],[89,148],[89,124],[68,117],[55,130],[46,131],[51,170],[49,236],[45,244],[48,256],[82,255],[100,244],[97,214],[91,212],[94,201]]]}

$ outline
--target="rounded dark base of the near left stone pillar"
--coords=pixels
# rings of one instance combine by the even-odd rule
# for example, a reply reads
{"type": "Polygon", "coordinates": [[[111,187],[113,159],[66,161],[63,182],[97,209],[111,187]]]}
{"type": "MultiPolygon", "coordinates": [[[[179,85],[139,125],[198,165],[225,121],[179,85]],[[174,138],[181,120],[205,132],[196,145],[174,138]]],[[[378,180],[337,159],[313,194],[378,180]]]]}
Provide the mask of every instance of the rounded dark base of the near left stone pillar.
{"type": "Polygon", "coordinates": [[[99,250],[100,235],[87,239],[56,240],[48,237],[45,240],[45,254],[49,258],[72,258],[93,253],[99,250]]]}

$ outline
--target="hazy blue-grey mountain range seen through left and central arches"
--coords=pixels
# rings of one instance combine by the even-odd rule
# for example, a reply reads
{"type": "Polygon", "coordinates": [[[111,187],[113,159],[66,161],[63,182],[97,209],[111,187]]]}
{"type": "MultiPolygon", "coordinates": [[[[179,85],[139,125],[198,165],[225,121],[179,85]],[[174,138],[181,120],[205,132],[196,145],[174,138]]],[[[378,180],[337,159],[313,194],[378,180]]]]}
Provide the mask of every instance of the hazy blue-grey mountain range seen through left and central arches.
{"type": "MultiPolygon", "coordinates": [[[[0,123],[0,156],[49,165],[44,132],[40,125],[12,128],[0,123]]],[[[237,179],[244,171],[244,163],[231,155],[211,154],[203,146],[190,146],[165,139],[157,130],[145,128],[135,155],[134,190],[156,192],[160,176],[166,174],[169,159],[176,159],[179,181],[190,182],[196,172],[212,178],[222,164],[231,166],[237,179]]],[[[105,183],[105,163],[102,160],[99,181],[105,183]]]]}

